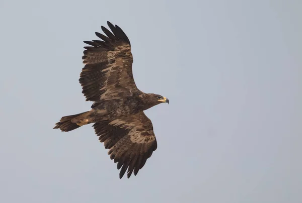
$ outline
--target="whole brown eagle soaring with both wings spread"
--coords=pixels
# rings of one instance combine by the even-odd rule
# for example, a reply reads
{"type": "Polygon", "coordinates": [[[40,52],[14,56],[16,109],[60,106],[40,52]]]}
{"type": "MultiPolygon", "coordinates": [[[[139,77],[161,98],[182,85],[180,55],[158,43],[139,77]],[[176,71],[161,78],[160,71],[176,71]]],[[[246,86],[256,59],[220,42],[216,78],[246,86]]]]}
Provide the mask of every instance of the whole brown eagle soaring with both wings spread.
{"type": "Polygon", "coordinates": [[[99,40],[84,41],[84,68],[80,74],[82,93],[93,101],[91,110],[64,116],[54,129],[72,131],[93,123],[99,141],[108,149],[110,159],[120,169],[119,178],[127,171],[136,175],[157,149],[151,120],[144,110],[169,99],[159,94],[140,91],[133,78],[131,44],[117,25],[101,26],[104,34],[96,32],[99,40]]]}

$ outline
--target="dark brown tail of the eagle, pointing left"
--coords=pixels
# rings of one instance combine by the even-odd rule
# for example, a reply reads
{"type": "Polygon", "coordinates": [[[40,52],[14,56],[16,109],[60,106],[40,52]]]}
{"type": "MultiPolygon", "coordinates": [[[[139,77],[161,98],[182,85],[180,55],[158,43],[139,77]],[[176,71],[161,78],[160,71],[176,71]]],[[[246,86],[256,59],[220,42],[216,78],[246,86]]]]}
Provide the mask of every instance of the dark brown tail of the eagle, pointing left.
{"type": "Polygon", "coordinates": [[[84,122],[85,118],[90,114],[90,112],[83,112],[81,114],[75,114],[71,116],[64,116],[61,120],[55,124],[53,129],[60,129],[63,132],[72,131],[83,125],[89,124],[89,122],[84,122]],[[84,118],[84,119],[83,119],[84,118]]]}

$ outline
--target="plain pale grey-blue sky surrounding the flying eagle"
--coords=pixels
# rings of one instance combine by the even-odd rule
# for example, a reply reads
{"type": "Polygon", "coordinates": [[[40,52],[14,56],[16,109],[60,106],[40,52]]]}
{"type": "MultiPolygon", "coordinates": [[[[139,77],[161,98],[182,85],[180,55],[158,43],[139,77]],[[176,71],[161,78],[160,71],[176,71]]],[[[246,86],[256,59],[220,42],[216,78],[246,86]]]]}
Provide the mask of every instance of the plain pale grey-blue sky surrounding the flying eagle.
{"type": "Polygon", "coordinates": [[[302,2],[0,1],[0,202],[302,202],[302,2]],[[107,21],[130,39],[158,149],[119,179],[78,81],[107,21]]]}

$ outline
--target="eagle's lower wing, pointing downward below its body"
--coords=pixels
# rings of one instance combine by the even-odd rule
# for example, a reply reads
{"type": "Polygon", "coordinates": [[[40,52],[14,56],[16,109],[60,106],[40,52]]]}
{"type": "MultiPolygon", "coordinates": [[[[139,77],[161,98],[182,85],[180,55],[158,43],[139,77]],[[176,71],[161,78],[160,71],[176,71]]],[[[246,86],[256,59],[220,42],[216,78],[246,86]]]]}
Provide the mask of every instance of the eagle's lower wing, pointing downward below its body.
{"type": "Polygon", "coordinates": [[[121,168],[120,178],[127,169],[128,178],[132,172],[136,175],[157,149],[152,122],[143,112],[127,118],[95,123],[93,127],[100,142],[109,149],[110,158],[117,162],[117,169],[121,168]]]}

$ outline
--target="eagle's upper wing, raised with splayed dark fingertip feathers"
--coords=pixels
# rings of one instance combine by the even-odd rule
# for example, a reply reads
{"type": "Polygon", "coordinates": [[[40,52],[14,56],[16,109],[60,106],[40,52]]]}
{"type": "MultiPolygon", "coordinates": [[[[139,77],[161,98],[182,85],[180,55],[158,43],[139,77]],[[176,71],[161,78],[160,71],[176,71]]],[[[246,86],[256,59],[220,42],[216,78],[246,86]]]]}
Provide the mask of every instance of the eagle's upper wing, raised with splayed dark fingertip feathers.
{"type": "Polygon", "coordinates": [[[137,90],[132,74],[130,41],[120,27],[107,23],[112,32],[103,26],[107,36],[96,32],[102,41],[84,41],[91,46],[84,47],[82,58],[86,65],[79,81],[87,101],[122,98],[137,90]]]}

